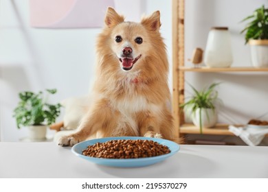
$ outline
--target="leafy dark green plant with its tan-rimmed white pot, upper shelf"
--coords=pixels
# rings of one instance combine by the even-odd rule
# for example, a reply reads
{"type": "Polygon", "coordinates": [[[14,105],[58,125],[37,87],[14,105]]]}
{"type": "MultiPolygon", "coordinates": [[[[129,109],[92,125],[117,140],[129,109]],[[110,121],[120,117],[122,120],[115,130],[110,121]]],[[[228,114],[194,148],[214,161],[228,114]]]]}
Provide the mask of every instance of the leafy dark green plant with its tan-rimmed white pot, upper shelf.
{"type": "Polygon", "coordinates": [[[250,45],[252,65],[268,67],[268,9],[263,5],[243,21],[248,21],[243,29],[245,43],[250,45]]]}

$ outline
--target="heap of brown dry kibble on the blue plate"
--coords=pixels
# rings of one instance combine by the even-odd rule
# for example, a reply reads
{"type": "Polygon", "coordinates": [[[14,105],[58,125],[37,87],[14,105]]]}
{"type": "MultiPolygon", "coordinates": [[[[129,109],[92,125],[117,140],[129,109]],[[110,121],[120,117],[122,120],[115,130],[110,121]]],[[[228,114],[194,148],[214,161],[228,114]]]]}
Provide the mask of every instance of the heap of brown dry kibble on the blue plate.
{"type": "Polygon", "coordinates": [[[96,158],[144,158],[170,153],[166,145],[149,140],[111,140],[89,145],[82,151],[85,156],[96,158]]]}

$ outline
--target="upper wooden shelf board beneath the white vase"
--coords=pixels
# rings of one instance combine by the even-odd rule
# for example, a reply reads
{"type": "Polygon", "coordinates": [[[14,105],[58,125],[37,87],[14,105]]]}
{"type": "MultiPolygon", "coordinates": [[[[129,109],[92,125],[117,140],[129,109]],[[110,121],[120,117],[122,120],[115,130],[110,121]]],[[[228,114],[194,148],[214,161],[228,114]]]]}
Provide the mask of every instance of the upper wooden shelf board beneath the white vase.
{"type": "Polygon", "coordinates": [[[210,68],[210,67],[185,67],[179,66],[179,71],[193,71],[193,72],[261,72],[268,71],[268,68],[254,68],[254,67],[225,67],[225,68],[210,68]]]}

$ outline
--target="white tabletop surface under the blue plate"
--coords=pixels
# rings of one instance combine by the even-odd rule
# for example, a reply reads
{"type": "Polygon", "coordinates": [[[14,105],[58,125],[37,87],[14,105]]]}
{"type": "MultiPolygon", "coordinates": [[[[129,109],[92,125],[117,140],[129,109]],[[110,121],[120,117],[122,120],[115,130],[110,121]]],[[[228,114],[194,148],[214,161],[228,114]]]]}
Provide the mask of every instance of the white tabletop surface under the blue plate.
{"type": "Polygon", "coordinates": [[[55,143],[0,142],[0,178],[268,178],[268,147],[181,145],[148,167],[96,165],[55,143]]]}

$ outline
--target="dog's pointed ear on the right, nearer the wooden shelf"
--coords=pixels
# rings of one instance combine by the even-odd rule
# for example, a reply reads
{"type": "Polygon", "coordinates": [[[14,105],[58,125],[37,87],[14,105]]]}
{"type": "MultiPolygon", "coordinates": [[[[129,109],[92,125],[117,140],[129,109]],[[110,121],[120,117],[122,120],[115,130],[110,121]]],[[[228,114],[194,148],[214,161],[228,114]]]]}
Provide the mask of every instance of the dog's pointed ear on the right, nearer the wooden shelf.
{"type": "Polygon", "coordinates": [[[158,31],[161,23],[160,23],[160,12],[153,12],[150,16],[146,16],[142,19],[142,25],[148,27],[151,31],[158,31]]]}

